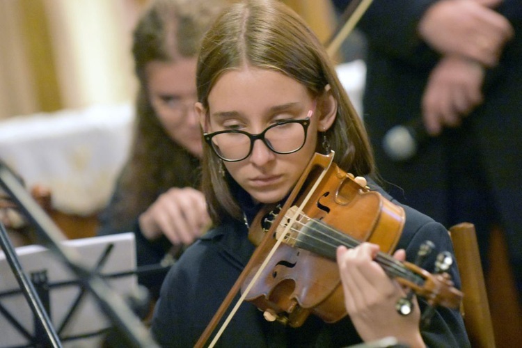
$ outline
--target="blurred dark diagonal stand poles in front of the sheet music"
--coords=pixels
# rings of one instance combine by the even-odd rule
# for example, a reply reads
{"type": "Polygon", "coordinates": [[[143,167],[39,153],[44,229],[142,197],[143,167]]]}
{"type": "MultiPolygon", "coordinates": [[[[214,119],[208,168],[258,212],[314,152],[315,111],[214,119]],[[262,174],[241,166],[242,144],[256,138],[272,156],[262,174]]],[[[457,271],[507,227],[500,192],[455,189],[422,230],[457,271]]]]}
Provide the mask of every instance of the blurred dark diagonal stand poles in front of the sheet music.
{"type": "MultiPolygon", "coordinates": [[[[140,319],[136,317],[122,297],[112,290],[96,272],[88,269],[74,249],[63,247],[61,243],[65,241],[63,233],[38,203],[35,202],[29,192],[26,191],[13,171],[1,160],[0,187],[10,195],[17,207],[22,211],[22,214],[29,220],[29,223],[36,228],[38,237],[40,237],[49,251],[76,276],[81,285],[93,296],[98,307],[113,324],[122,342],[125,342],[129,347],[157,347],[148,330],[145,329],[140,319]]],[[[7,232],[3,226],[1,226],[0,237],[1,246],[8,255],[13,274],[15,274],[18,280],[19,286],[37,322],[41,324],[40,328],[43,331],[43,335],[47,337],[45,347],[62,347],[56,335],[56,329],[49,322],[49,317],[38,293],[20,266],[17,255],[13,252],[13,246],[10,244],[7,232]]],[[[40,277],[37,276],[37,278],[40,277]]]]}

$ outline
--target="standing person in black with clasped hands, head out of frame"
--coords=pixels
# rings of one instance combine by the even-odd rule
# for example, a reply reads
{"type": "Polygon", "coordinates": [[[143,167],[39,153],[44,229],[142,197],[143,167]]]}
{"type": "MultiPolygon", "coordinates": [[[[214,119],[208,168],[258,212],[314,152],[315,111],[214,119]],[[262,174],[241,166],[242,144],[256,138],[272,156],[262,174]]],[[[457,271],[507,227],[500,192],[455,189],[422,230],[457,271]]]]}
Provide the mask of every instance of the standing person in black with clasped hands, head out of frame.
{"type": "Polygon", "coordinates": [[[502,230],[522,300],[520,2],[375,0],[358,28],[363,118],[386,191],[447,228],[474,223],[484,271],[491,230],[502,230]],[[390,152],[397,125],[424,140],[390,152]]]}

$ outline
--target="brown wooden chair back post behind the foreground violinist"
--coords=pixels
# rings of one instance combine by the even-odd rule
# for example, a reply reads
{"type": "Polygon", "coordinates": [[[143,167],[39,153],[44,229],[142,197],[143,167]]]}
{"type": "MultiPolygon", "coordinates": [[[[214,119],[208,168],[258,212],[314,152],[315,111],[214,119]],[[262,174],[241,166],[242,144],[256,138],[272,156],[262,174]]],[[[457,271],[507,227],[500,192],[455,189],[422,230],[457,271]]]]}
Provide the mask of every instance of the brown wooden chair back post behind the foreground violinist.
{"type": "Polygon", "coordinates": [[[495,346],[493,324],[482,273],[482,264],[473,223],[459,223],[450,228],[455,258],[459,266],[464,299],[461,312],[471,347],[495,346]]]}

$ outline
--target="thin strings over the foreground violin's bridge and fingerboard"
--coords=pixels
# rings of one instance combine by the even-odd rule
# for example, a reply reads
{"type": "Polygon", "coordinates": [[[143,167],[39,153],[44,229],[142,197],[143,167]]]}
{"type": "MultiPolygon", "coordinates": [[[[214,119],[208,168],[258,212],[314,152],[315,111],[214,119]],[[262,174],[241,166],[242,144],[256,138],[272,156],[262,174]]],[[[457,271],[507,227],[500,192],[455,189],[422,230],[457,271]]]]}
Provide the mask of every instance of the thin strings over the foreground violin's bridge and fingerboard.
{"type": "MultiPolygon", "coordinates": [[[[308,216],[306,216],[306,214],[301,213],[300,216],[294,221],[294,223],[299,223],[301,225],[301,228],[291,227],[290,230],[292,230],[292,232],[296,232],[296,234],[298,235],[303,235],[305,237],[308,237],[308,239],[312,239],[314,242],[317,242],[315,246],[319,246],[319,248],[326,247],[330,248],[331,250],[331,248],[337,248],[337,246],[339,245],[344,245],[348,248],[355,248],[356,246],[361,244],[361,242],[359,242],[354,237],[339,232],[338,230],[335,230],[335,228],[331,228],[331,226],[319,220],[315,220],[315,223],[317,223],[318,226],[321,226],[322,228],[329,230],[329,232],[333,232],[333,235],[327,234],[319,228],[313,228],[310,226],[307,226],[307,230],[310,230],[310,232],[314,233],[303,232],[303,227],[306,226],[306,224],[301,221],[303,217],[306,217],[306,219],[310,219],[308,218],[308,216]],[[338,236],[338,238],[336,238],[335,236],[338,236]],[[326,237],[326,239],[322,237],[326,237]]],[[[291,234],[289,235],[288,239],[299,241],[301,245],[313,246],[313,244],[311,244],[310,242],[303,242],[296,237],[292,237],[291,234]]],[[[323,250],[328,250],[326,248],[323,248],[323,250]]],[[[379,251],[379,253],[377,254],[376,261],[379,262],[379,264],[381,264],[384,269],[390,271],[395,276],[402,276],[403,278],[416,278],[416,276],[411,271],[409,271],[409,269],[406,269],[400,261],[391,257],[390,255],[382,253],[381,251],[379,251]]]]}

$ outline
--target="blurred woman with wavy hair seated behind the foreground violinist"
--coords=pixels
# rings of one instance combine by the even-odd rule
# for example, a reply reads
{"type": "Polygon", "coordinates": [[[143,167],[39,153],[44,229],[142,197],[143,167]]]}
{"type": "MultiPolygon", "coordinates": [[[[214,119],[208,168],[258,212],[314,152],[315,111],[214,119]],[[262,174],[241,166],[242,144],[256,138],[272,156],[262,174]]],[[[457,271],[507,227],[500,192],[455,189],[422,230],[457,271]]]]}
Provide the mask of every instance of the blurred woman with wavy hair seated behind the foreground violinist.
{"type": "MultiPolygon", "coordinates": [[[[202,146],[193,103],[200,38],[222,6],[155,0],[134,29],[134,139],[97,234],[134,232],[139,267],[176,258],[209,223],[198,189],[202,146]]],[[[139,282],[157,297],[165,274],[141,274],[139,282]]]]}

